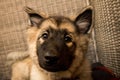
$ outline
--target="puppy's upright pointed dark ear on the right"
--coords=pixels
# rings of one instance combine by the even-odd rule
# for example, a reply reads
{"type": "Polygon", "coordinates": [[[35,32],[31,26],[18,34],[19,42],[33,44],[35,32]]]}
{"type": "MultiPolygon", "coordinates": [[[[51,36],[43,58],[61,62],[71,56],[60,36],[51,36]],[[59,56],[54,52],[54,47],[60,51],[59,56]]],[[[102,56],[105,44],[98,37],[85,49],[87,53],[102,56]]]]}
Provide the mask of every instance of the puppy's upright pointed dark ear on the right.
{"type": "Polygon", "coordinates": [[[75,24],[80,33],[86,34],[92,25],[92,7],[84,9],[80,15],[75,19],[75,24]]]}

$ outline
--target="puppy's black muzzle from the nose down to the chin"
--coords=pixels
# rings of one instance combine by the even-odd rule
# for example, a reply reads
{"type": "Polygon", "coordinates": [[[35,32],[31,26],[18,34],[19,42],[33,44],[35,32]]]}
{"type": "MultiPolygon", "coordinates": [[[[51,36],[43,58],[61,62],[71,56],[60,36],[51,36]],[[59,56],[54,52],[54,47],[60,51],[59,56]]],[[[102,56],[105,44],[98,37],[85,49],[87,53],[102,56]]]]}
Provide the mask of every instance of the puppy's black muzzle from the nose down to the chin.
{"type": "Polygon", "coordinates": [[[72,58],[68,56],[60,56],[54,53],[45,53],[39,59],[39,65],[49,72],[58,72],[67,70],[72,63],[72,58]]]}

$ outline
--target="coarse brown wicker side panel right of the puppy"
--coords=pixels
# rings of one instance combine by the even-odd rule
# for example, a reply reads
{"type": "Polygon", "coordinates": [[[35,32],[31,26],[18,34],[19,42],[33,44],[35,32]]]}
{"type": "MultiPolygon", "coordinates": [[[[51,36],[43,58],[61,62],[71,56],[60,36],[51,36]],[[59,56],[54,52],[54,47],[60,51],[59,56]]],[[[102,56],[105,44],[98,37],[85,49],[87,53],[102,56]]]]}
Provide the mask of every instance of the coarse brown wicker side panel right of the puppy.
{"type": "Polygon", "coordinates": [[[120,77],[120,0],[91,0],[99,60],[120,77]]]}

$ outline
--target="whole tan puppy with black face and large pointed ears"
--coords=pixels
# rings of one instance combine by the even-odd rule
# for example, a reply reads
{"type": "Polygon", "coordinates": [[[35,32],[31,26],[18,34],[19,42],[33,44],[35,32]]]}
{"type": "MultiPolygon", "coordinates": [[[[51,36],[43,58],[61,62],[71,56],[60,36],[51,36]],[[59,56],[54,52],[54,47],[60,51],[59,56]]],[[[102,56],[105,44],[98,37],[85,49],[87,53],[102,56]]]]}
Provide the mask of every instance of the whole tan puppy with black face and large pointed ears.
{"type": "Polygon", "coordinates": [[[27,30],[29,50],[14,53],[11,79],[92,80],[85,56],[92,7],[83,9],[74,20],[63,16],[46,17],[28,7],[25,11],[31,22],[27,30]]]}

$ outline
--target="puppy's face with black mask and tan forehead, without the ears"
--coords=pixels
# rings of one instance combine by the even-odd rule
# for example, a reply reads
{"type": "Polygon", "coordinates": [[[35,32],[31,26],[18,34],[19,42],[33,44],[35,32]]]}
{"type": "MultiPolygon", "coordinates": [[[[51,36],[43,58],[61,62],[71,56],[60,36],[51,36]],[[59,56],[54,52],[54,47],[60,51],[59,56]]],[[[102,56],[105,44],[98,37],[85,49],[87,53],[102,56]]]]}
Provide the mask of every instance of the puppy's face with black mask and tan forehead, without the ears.
{"type": "Polygon", "coordinates": [[[37,40],[37,55],[42,68],[48,71],[63,71],[69,68],[76,49],[77,34],[74,26],[64,17],[51,17],[41,23],[42,33],[37,40]]]}

